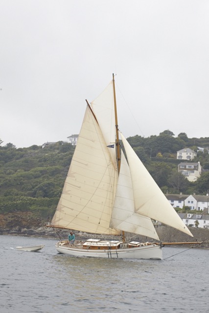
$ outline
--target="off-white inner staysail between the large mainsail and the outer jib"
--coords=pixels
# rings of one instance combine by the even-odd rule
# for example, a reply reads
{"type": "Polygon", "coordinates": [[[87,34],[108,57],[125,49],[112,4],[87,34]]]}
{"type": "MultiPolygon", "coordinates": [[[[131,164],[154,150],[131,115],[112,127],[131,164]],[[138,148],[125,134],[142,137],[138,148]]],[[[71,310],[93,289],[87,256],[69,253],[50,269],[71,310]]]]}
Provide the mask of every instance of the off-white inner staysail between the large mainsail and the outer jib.
{"type": "Polygon", "coordinates": [[[151,219],[135,212],[130,169],[122,151],[110,225],[113,228],[160,240],[151,219]]]}

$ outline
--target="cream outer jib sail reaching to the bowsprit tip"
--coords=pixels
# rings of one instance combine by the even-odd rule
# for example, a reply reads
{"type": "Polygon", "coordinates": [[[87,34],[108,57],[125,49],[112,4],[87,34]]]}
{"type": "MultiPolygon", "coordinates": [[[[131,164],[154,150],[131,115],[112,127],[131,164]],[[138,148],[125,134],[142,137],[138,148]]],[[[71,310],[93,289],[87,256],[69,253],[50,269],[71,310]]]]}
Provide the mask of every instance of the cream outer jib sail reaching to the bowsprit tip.
{"type": "Polygon", "coordinates": [[[136,212],[193,237],[123,134],[120,136],[131,172],[136,212]]]}

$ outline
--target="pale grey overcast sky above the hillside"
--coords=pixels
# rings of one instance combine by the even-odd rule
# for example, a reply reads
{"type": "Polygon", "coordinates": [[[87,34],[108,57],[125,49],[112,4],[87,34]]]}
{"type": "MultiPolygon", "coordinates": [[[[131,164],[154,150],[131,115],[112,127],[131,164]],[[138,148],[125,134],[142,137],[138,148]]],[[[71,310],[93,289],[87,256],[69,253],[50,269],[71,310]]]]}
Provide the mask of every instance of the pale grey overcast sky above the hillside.
{"type": "Polygon", "coordinates": [[[209,1],[0,1],[2,145],[78,134],[112,73],[125,137],[209,137],[209,1]]]}

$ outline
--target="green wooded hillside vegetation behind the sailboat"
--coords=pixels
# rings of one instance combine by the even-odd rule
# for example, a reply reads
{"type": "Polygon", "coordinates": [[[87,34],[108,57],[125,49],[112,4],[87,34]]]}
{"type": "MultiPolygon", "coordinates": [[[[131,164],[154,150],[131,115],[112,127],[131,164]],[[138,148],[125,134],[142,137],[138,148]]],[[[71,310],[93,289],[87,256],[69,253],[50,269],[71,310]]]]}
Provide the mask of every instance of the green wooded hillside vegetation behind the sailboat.
{"type": "MultiPolygon", "coordinates": [[[[176,152],[185,147],[209,147],[207,138],[187,138],[185,133],[174,137],[170,131],[147,138],[129,137],[129,143],[164,193],[206,194],[209,172],[196,182],[189,182],[178,173],[176,152]]],[[[51,220],[60,195],[74,147],[57,142],[45,148],[33,145],[18,148],[0,140],[0,214],[30,212],[40,224],[51,220]]],[[[198,152],[193,161],[200,161],[209,170],[208,150],[198,152]]],[[[152,190],[150,190],[150,193],[152,190]]]]}

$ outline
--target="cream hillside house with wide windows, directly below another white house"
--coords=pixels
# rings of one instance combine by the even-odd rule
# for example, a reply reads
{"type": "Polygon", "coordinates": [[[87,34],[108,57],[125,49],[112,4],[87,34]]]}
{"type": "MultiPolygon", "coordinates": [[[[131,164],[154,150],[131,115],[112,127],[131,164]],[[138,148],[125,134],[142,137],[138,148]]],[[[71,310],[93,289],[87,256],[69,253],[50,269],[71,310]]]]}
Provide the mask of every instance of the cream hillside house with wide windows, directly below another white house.
{"type": "Polygon", "coordinates": [[[189,181],[195,181],[200,177],[202,167],[200,162],[197,163],[180,163],[178,165],[178,172],[182,173],[189,181]]]}

